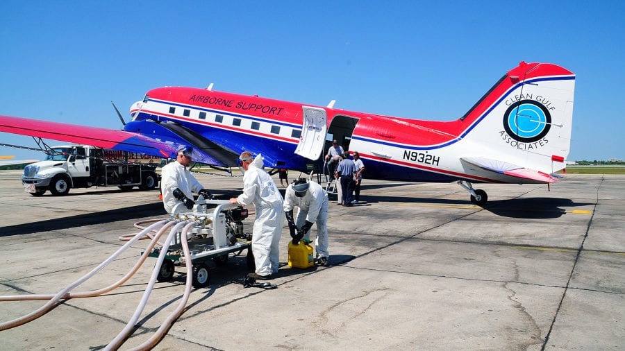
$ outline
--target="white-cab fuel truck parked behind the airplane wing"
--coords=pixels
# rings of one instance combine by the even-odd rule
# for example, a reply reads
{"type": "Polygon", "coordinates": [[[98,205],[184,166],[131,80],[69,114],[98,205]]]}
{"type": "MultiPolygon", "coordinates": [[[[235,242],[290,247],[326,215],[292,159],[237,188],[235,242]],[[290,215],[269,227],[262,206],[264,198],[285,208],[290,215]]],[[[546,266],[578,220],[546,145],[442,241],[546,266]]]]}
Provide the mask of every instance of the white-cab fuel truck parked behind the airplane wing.
{"type": "MultiPolygon", "coordinates": [[[[119,187],[129,190],[158,187],[156,159],[148,155],[113,151],[88,145],[53,146],[46,159],[24,167],[24,191],[41,196],[47,190],[62,196],[72,188],[119,187]]],[[[160,164],[160,159],[158,159],[160,164]]]]}

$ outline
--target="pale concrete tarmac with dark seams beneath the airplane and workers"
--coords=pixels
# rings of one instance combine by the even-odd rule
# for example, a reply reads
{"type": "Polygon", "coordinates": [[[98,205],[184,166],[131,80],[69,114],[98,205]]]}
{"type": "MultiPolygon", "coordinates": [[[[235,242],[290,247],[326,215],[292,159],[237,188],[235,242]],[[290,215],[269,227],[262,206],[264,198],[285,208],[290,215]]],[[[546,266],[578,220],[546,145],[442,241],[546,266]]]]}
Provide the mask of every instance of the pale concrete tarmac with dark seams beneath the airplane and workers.
{"type": "MultiPolygon", "coordinates": [[[[35,197],[20,176],[0,171],[3,296],[57,293],[122,246],[120,235],[138,232],[133,223],[166,217],[157,190],[35,197]]],[[[218,198],[240,194],[240,177],[198,178],[218,198]]],[[[330,267],[289,268],[288,228],[277,289],[235,282],[248,273],[244,254],[223,267],[211,262],[210,285],[192,291],[155,350],[624,350],[625,176],[569,176],[551,191],[476,188],[488,193],[485,208],[455,183],[365,179],[369,206],[338,206],[331,196],[330,267]]],[[[145,246],[135,243],[74,291],[115,282],[145,246]]],[[[115,291],[65,300],[0,332],[0,349],[105,347],[133,315],[155,263],[115,291]]],[[[184,271],[155,285],[122,350],[149,339],[176,308],[184,271]]],[[[0,323],[44,303],[0,302],[0,323]]]]}

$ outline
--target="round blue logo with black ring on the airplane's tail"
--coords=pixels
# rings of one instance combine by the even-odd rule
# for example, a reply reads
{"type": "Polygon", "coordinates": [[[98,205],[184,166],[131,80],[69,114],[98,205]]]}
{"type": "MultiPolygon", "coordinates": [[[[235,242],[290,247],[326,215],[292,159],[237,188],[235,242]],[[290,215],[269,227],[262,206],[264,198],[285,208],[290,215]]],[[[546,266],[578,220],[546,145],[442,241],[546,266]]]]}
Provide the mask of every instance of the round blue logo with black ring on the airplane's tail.
{"type": "Polygon", "coordinates": [[[503,128],[512,139],[519,142],[536,142],[549,132],[551,114],[536,101],[517,101],[503,114],[503,128]]]}

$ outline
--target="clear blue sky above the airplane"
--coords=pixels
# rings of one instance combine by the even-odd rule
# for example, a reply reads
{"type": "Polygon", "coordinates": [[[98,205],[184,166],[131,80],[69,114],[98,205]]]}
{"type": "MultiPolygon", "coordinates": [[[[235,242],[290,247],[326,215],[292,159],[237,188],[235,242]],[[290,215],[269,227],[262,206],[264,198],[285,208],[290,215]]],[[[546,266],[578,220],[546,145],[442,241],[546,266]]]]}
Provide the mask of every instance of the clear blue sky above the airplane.
{"type": "Polygon", "coordinates": [[[445,121],[524,60],[577,76],[568,160],[625,159],[624,3],[1,1],[0,114],[121,128],[110,101],[128,119],[151,88],[215,83],[445,121]]]}

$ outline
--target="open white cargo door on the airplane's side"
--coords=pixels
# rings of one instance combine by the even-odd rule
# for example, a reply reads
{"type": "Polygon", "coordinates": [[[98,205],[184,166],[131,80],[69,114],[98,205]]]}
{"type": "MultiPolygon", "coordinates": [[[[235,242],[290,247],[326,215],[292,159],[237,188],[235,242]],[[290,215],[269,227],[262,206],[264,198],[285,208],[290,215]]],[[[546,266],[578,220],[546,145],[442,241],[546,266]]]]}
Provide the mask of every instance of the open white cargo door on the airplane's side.
{"type": "Polygon", "coordinates": [[[302,110],[301,136],[295,153],[308,158],[308,160],[319,160],[319,156],[324,151],[326,133],[328,132],[326,110],[309,106],[302,106],[302,110]]]}

